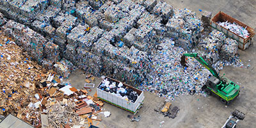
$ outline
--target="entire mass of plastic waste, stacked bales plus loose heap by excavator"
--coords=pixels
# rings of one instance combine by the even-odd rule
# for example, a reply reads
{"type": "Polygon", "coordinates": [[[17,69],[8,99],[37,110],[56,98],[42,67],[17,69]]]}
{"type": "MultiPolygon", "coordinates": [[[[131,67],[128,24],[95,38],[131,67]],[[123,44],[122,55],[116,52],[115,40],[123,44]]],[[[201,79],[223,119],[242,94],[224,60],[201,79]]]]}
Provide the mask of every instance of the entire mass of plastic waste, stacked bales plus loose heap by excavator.
{"type": "MultiPolygon", "coordinates": [[[[226,65],[244,67],[234,40],[218,31],[205,34],[207,28],[195,12],[164,1],[0,3],[4,33],[31,59],[63,78],[79,67],[174,99],[191,90],[200,93],[209,76],[193,58],[188,58],[188,68],[181,67],[185,52],[199,52],[218,71],[226,65]]],[[[207,24],[211,13],[204,17],[207,24]]]]}

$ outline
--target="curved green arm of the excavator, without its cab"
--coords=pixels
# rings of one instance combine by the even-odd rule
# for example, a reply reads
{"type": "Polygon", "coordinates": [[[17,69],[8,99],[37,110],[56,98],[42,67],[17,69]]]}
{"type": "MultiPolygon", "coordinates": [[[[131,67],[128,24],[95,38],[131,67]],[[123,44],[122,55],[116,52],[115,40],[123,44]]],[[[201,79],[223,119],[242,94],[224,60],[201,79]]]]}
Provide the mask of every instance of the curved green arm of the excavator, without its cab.
{"type": "Polygon", "coordinates": [[[186,60],[185,60],[186,56],[195,58],[199,63],[204,65],[204,67],[207,68],[214,77],[220,79],[220,76],[218,76],[218,73],[216,72],[216,70],[214,68],[212,68],[211,65],[209,65],[202,57],[198,56],[198,53],[185,53],[185,54],[183,54],[182,57],[181,57],[181,61],[180,61],[182,66],[186,66],[186,60]]]}

